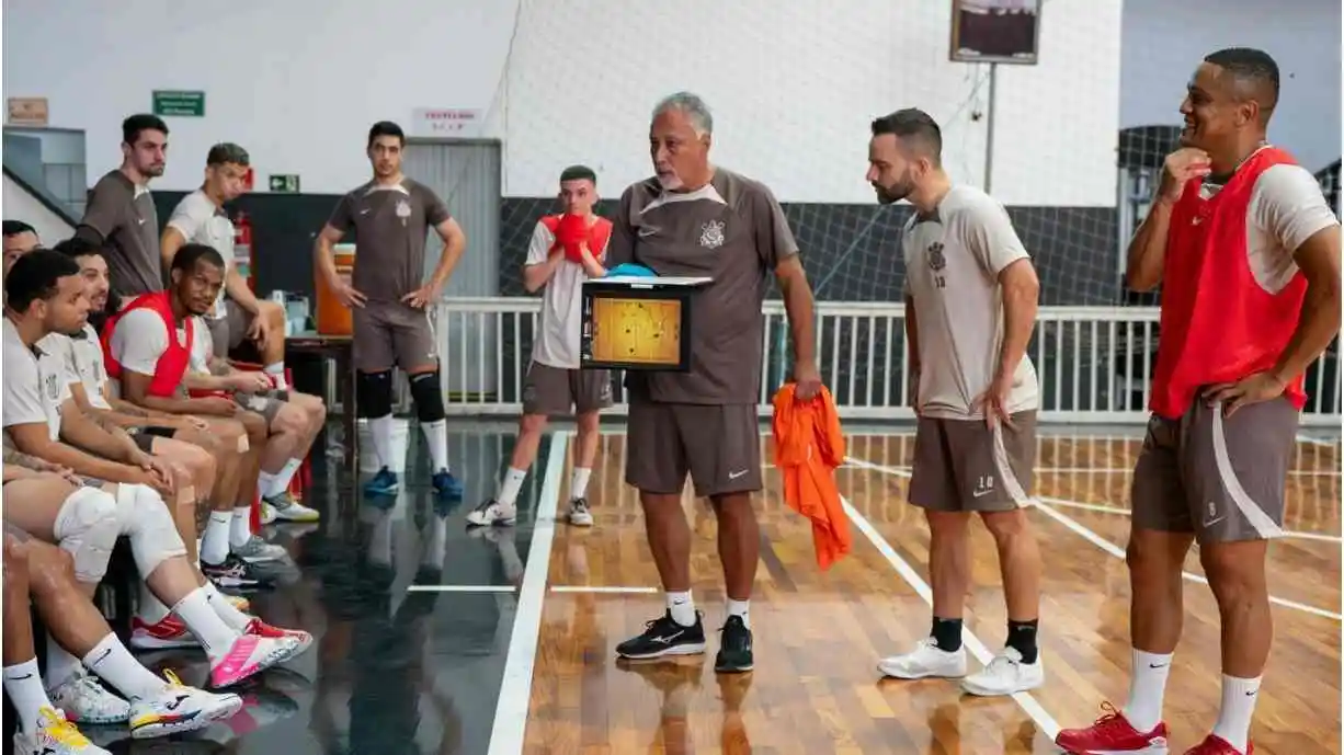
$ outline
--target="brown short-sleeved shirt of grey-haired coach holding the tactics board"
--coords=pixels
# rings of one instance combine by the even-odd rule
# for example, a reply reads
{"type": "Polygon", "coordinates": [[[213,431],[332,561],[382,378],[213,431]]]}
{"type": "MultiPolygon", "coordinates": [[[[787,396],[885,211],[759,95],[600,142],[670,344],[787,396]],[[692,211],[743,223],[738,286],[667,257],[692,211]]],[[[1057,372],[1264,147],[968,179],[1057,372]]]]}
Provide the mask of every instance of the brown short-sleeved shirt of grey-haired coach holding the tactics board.
{"type": "Polygon", "coordinates": [[[621,196],[606,266],[634,262],[659,275],[707,277],[691,308],[691,371],[630,372],[650,400],[754,404],[761,392],[766,275],[798,254],[765,184],[716,168],[704,187],[664,192],[657,179],[621,196]]]}

